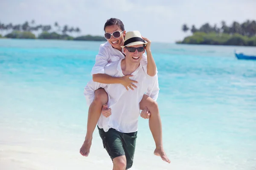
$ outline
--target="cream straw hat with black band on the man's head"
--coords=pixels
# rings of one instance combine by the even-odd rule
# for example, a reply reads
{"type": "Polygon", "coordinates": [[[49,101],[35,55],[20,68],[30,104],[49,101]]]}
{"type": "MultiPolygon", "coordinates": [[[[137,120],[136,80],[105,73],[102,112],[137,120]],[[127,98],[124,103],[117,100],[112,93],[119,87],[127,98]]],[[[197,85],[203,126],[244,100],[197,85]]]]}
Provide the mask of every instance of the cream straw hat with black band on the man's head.
{"type": "Polygon", "coordinates": [[[125,44],[121,46],[122,48],[126,46],[145,44],[147,41],[143,40],[139,31],[129,31],[125,34],[125,44]]]}

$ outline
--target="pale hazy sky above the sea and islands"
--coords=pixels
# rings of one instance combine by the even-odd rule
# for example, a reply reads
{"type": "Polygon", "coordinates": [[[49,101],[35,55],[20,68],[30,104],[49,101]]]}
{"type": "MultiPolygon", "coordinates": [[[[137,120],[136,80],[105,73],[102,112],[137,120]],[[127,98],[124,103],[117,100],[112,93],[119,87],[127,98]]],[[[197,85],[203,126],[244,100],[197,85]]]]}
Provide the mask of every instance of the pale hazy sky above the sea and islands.
{"type": "MultiPolygon", "coordinates": [[[[175,42],[190,35],[181,26],[204,23],[220,26],[256,20],[256,0],[0,0],[0,22],[79,27],[81,34],[104,34],[111,17],[126,31],[138,30],[152,42],[175,42]]],[[[1,33],[0,33],[1,34],[1,33]]]]}

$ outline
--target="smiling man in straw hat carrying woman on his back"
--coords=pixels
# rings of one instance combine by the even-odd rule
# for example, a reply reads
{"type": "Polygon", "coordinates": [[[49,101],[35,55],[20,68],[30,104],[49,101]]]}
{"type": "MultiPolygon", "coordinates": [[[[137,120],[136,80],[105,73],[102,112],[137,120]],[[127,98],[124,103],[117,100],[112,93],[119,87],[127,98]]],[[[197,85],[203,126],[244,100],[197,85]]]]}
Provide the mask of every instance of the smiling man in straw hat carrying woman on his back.
{"type": "Polygon", "coordinates": [[[137,88],[127,91],[120,84],[102,84],[90,81],[84,89],[88,102],[92,102],[94,91],[104,88],[108,94],[110,116],[101,115],[98,121],[99,135],[103,146],[113,161],[113,170],[125,170],[133,164],[137,138],[139,103],[143,94],[157,100],[159,87],[157,75],[148,76],[140,64],[145,52],[145,42],[139,31],[127,32],[122,46],[125,58],[105,66],[105,74],[113,77],[133,75],[131,79],[138,82],[137,88]]]}

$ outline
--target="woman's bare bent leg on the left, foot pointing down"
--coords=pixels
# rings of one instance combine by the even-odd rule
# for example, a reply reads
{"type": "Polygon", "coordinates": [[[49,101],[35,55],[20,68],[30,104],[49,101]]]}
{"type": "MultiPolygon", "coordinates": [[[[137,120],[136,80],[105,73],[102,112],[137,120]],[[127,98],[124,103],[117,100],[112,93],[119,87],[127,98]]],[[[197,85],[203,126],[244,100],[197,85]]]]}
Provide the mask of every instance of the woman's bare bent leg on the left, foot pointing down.
{"type": "Polygon", "coordinates": [[[85,136],[84,143],[80,149],[82,156],[88,156],[90,153],[90,147],[93,139],[93,131],[97,125],[100,114],[102,112],[102,107],[108,102],[108,94],[103,88],[99,88],[95,91],[95,97],[91,103],[88,110],[88,119],[87,119],[87,132],[85,136]]]}

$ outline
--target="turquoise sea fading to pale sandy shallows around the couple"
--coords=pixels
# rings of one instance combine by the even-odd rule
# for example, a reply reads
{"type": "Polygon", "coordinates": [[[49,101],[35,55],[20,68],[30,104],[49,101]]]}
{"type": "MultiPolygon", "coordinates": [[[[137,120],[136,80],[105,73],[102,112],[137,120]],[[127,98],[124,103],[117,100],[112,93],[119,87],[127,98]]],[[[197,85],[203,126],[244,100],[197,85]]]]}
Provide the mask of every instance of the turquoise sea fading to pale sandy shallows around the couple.
{"type": "MultiPolygon", "coordinates": [[[[0,169],[98,170],[112,162],[95,130],[79,154],[88,106],[83,90],[103,42],[0,39],[0,169]]],[[[255,47],[152,43],[163,141],[153,155],[139,119],[134,170],[256,170],[255,47]]]]}

